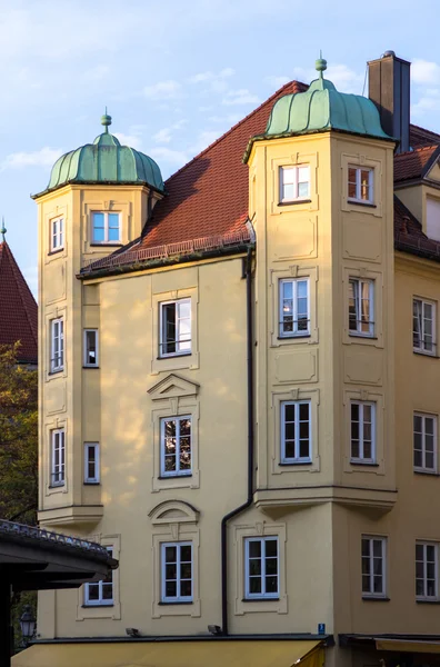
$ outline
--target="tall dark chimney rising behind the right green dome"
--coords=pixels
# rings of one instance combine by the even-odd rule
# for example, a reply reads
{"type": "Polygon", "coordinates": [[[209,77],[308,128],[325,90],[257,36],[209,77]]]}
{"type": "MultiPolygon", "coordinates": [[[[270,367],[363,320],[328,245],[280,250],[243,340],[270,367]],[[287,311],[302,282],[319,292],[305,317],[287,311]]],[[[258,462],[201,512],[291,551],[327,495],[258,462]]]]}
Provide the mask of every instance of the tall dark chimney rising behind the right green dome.
{"type": "Polygon", "coordinates": [[[397,152],[410,150],[410,67],[394,51],[368,63],[368,96],[379,109],[382,129],[399,139],[397,152]]]}

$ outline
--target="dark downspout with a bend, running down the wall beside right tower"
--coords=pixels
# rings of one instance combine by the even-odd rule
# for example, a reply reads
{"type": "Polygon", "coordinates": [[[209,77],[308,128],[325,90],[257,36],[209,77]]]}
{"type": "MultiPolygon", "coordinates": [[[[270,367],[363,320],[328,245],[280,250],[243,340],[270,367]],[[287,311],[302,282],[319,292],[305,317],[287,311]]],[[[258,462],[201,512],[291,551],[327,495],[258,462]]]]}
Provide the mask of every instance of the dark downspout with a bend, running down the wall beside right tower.
{"type": "Polygon", "coordinates": [[[228,635],[228,521],[250,507],[253,497],[253,338],[252,338],[252,248],[246,258],[246,313],[248,364],[248,497],[221,519],[221,634],[228,635]]]}

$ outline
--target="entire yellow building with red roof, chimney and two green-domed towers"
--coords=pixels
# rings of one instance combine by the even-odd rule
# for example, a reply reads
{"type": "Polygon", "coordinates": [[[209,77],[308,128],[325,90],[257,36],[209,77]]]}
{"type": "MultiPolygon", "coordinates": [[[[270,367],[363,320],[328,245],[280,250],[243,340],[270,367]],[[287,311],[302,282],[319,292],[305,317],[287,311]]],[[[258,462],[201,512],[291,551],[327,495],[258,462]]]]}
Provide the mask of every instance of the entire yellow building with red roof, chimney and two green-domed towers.
{"type": "Polygon", "coordinates": [[[166,183],[106,116],[36,196],[39,519],[120,563],[40,595],[47,667],[439,653],[440,136],[369,68],[319,60],[166,183]],[[208,625],[246,650],[126,637],[208,625]]]}

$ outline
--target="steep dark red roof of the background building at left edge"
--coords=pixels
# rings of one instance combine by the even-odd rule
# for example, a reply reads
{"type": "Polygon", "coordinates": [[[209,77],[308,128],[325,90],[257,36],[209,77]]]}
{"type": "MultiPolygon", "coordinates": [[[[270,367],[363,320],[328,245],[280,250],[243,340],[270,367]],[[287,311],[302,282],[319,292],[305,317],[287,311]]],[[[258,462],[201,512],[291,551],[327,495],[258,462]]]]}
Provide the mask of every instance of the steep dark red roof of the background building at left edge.
{"type": "Polygon", "coordinates": [[[0,243],[0,345],[21,342],[19,361],[37,364],[37,302],[11,249],[0,243]]]}

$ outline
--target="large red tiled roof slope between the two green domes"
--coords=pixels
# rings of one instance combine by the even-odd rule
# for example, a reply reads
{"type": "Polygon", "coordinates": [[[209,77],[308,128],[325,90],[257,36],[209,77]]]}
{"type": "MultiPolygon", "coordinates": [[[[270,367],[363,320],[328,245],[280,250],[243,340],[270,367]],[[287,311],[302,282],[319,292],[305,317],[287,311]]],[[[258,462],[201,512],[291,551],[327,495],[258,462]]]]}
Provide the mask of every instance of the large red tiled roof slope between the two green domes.
{"type": "Polygon", "coordinates": [[[291,81],[166,181],[168,196],[156,205],[141,248],[243,229],[249,210],[249,167],[241,162],[248,141],[266,129],[273,102],[307,90],[291,81]]]}

